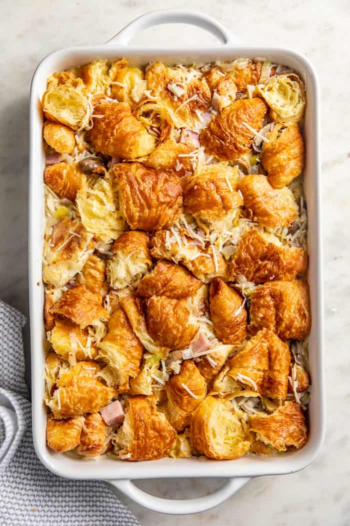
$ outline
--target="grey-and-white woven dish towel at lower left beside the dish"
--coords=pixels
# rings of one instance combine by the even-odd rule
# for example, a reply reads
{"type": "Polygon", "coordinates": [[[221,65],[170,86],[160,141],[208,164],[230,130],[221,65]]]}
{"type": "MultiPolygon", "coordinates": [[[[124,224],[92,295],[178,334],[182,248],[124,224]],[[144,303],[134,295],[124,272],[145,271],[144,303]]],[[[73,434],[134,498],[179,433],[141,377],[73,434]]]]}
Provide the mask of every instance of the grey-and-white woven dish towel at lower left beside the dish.
{"type": "Polygon", "coordinates": [[[0,519],[2,526],[140,526],[103,482],[49,472],[31,439],[24,380],[25,316],[0,300],[0,519]]]}

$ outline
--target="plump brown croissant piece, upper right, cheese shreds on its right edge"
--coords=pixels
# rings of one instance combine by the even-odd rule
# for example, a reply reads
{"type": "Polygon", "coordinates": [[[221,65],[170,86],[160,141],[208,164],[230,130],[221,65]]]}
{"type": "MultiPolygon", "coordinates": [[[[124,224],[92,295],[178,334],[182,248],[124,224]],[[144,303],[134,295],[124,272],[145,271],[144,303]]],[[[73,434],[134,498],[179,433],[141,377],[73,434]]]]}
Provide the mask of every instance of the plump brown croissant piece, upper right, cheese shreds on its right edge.
{"type": "Polygon", "coordinates": [[[214,154],[219,159],[235,161],[249,152],[254,137],[254,132],[244,123],[259,131],[266,112],[267,104],[258,97],[236,100],[223,109],[202,131],[200,143],[208,154],[214,154]]]}

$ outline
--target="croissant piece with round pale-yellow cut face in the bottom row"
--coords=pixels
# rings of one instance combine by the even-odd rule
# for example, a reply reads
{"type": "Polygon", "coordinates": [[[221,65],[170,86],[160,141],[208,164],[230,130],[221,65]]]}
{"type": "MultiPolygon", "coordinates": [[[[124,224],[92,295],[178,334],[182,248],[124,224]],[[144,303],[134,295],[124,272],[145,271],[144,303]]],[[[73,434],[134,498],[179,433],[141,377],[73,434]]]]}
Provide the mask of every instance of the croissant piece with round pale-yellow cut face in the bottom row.
{"type": "Polygon", "coordinates": [[[249,450],[252,437],[224,402],[208,396],[192,415],[190,440],[210,459],[233,460],[249,450]]]}

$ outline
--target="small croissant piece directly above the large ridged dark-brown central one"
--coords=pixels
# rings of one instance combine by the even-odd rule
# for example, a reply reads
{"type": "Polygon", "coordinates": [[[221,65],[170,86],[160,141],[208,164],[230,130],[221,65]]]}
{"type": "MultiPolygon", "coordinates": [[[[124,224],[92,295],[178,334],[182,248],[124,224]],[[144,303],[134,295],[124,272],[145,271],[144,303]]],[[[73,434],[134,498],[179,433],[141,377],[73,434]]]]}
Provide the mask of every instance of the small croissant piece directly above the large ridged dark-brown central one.
{"type": "Polygon", "coordinates": [[[185,175],[185,171],[193,171],[191,157],[187,156],[195,149],[189,143],[177,143],[174,139],[166,139],[158,144],[151,155],[142,161],[142,164],[155,170],[175,170],[177,175],[185,175]],[[180,156],[180,157],[178,157],[180,156]]]}

